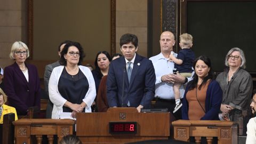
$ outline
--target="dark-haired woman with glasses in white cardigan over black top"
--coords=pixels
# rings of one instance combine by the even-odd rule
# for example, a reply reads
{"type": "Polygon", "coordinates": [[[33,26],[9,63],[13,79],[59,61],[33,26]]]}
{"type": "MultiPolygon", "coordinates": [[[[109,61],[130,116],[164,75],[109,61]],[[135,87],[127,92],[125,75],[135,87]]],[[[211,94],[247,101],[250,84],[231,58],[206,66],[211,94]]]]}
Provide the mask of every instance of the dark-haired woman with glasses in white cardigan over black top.
{"type": "Polygon", "coordinates": [[[61,118],[62,112],[70,113],[73,118],[76,113],[91,112],[95,83],[91,70],[81,66],[83,58],[83,47],[77,42],[67,43],[61,51],[61,66],[53,69],[49,80],[54,119],[61,118]]]}

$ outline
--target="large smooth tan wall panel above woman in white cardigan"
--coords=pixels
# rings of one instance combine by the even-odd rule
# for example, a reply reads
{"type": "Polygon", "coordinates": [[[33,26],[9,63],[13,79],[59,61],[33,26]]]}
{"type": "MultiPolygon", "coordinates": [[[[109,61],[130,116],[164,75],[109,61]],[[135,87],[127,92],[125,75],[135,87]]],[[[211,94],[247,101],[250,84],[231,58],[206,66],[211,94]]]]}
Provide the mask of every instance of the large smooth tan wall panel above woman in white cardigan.
{"type": "Polygon", "coordinates": [[[65,40],[82,44],[86,57],[110,52],[110,1],[33,1],[33,60],[57,60],[58,45],[65,40]]]}

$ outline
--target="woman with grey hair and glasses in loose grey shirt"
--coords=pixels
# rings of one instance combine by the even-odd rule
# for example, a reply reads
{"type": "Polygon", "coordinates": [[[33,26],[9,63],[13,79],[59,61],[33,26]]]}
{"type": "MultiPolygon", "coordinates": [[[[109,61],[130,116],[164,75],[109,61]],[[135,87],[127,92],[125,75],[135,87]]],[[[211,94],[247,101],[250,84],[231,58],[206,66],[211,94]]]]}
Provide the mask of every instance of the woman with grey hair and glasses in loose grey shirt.
{"type": "Polygon", "coordinates": [[[227,68],[216,79],[223,91],[222,115],[229,115],[230,120],[236,122],[243,116],[243,110],[250,111],[253,84],[251,75],[245,70],[245,62],[243,50],[234,47],[226,55],[227,68]]]}

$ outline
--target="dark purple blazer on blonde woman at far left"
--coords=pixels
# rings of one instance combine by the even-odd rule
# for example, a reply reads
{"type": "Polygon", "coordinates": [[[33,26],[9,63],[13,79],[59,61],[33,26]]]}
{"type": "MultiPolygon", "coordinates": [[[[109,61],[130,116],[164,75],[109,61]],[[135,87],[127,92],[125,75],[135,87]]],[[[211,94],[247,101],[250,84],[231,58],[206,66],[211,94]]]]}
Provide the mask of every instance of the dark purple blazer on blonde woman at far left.
{"type": "Polygon", "coordinates": [[[40,81],[37,68],[25,63],[28,69],[28,82],[16,62],[4,69],[4,92],[9,106],[17,110],[18,115],[26,115],[29,107],[40,109],[40,81]]]}

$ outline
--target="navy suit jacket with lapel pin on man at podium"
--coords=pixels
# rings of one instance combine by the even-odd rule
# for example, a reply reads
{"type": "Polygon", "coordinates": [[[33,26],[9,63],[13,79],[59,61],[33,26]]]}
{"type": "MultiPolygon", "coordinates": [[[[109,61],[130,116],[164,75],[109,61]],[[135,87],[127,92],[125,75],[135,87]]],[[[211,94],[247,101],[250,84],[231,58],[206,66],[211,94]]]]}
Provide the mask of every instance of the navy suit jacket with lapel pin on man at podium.
{"type": "Polygon", "coordinates": [[[130,101],[131,107],[149,108],[155,95],[155,81],[155,69],[147,58],[136,54],[130,84],[124,57],[111,61],[107,78],[109,107],[126,107],[130,101]]]}

